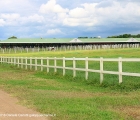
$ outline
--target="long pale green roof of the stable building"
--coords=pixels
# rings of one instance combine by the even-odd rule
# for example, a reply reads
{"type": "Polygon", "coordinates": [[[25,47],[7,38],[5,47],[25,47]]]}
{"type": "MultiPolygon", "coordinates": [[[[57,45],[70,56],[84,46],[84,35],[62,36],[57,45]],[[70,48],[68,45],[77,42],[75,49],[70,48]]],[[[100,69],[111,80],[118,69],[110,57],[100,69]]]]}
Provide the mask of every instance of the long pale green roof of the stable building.
{"type": "MultiPolygon", "coordinates": [[[[75,38],[76,39],[76,38],[75,38]]],[[[97,43],[97,42],[132,42],[130,38],[78,38],[78,42],[73,38],[18,38],[2,40],[0,43],[97,43]]],[[[140,42],[140,38],[135,38],[140,42]]]]}

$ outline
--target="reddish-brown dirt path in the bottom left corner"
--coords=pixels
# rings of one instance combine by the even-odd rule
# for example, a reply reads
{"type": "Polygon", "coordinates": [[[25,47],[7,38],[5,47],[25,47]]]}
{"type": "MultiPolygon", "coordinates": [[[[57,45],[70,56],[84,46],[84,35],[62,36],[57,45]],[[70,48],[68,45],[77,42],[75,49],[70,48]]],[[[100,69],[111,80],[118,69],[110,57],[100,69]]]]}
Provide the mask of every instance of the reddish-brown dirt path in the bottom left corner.
{"type": "MultiPolygon", "coordinates": [[[[48,117],[17,104],[18,100],[0,90],[0,120],[48,120],[48,117]],[[11,116],[12,115],[12,116],[11,116]]],[[[47,115],[46,115],[47,116],[47,115]]],[[[49,119],[50,120],[50,119],[49,119]]]]}

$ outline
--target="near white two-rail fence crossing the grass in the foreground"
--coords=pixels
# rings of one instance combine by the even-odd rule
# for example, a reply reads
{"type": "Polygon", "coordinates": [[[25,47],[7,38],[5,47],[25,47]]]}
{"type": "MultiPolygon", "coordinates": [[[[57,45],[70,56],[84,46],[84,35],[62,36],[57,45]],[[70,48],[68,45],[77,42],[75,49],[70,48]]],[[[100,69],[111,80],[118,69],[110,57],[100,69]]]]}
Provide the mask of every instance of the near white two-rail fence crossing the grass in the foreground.
{"type": "Polygon", "coordinates": [[[136,76],[140,77],[140,73],[129,73],[129,72],[123,72],[122,71],[122,63],[123,62],[140,62],[140,58],[37,58],[37,57],[0,57],[0,63],[8,63],[8,64],[14,64],[18,67],[25,69],[33,69],[33,66],[35,67],[35,70],[38,70],[38,67],[41,68],[41,71],[43,71],[44,68],[46,68],[47,72],[49,72],[49,68],[53,68],[54,72],[57,72],[57,69],[63,70],[63,75],[65,75],[66,70],[72,70],[73,71],[73,77],[76,77],[76,71],[84,71],[85,72],[85,79],[88,79],[88,73],[89,72],[95,72],[100,74],[100,83],[103,82],[104,74],[114,74],[119,76],[119,83],[122,83],[122,76],[136,76]],[[53,65],[50,60],[53,61],[53,65]],[[44,62],[45,61],[45,62],[44,62]],[[58,66],[57,61],[62,61],[62,65],[58,66]],[[66,61],[72,61],[72,67],[66,66],[66,61]],[[77,61],[84,61],[85,67],[84,68],[77,68],[76,63],[77,61]],[[89,61],[98,61],[100,63],[100,69],[89,69],[89,61]],[[118,71],[106,71],[104,70],[104,62],[118,62],[118,71]]]}

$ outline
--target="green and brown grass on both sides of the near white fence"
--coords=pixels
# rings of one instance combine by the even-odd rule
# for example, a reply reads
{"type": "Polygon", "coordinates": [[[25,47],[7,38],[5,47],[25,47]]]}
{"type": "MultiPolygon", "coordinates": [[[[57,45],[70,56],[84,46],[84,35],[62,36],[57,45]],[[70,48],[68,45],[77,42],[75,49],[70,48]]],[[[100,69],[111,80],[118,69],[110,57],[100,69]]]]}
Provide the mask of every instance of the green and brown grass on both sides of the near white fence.
{"type": "MultiPolygon", "coordinates": [[[[0,56],[139,58],[140,49],[51,51],[0,56]]],[[[106,69],[111,68],[107,66],[108,63],[106,69]]],[[[126,71],[133,68],[131,72],[140,72],[139,63],[126,63],[125,66],[126,71]]],[[[43,114],[56,114],[53,120],[140,119],[139,77],[124,76],[124,82],[119,85],[117,76],[105,75],[105,81],[100,85],[98,74],[91,74],[91,79],[85,81],[82,72],[72,78],[70,71],[63,77],[61,72],[47,74],[45,71],[21,70],[6,64],[0,65],[0,72],[1,89],[16,96],[20,104],[43,114]]]]}

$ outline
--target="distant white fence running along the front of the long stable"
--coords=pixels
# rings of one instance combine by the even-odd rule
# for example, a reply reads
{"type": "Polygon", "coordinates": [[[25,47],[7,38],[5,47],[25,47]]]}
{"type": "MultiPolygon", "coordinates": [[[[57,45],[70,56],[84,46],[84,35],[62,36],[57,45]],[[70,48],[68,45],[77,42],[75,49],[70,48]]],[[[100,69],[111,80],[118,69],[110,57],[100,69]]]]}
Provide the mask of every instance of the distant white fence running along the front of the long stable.
{"type": "Polygon", "coordinates": [[[71,51],[71,50],[100,50],[100,49],[119,49],[119,48],[140,48],[140,44],[113,44],[113,45],[63,45],[61,47],[14,47],[14,48],[0,48],[0,53],[29,53],[39,51],[71,51]],[[50,49],[54,48],[54,49],[50,49]]]}

